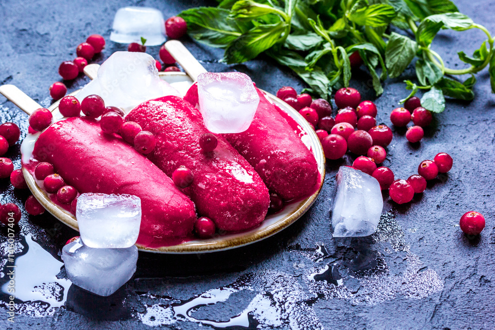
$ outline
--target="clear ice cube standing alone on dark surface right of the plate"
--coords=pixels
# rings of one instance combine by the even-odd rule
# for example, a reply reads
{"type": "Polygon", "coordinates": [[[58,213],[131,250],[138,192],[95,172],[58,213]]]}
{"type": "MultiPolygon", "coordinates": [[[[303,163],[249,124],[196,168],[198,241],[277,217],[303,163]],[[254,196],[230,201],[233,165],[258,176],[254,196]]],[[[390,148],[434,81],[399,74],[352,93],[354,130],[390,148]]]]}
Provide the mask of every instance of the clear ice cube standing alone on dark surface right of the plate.
{"type": "Polygon", "coordinates": [[[334,237],[368,236],[376,231],[383,198],[378,181],[359,170],[342,166],[332,211],[334,237]]]}

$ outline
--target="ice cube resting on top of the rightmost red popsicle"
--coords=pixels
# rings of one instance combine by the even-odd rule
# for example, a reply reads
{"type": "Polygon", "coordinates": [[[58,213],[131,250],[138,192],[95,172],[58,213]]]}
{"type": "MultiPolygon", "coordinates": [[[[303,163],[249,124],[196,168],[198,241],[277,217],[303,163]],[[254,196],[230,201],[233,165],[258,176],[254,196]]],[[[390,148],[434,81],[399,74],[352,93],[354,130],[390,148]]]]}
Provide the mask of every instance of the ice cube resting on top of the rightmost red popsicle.
{"type": "Polygon", "coordinates": [[[201,73],[199,111],[213,133],[241,133],[251,125],[259,95],[251,78],[241,72],[201,73]]]}

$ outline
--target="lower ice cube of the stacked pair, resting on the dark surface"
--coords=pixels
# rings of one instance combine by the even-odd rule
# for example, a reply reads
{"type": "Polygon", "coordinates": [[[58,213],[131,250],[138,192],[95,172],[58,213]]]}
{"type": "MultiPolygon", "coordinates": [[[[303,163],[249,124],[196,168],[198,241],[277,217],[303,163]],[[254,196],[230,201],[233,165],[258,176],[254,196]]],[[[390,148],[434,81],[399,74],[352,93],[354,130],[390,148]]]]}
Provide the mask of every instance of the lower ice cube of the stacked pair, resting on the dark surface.
{"type": "Polygon", "coordinates": [[[96,249],[84,245],[78,238],[63,247],[62,260],[73,284],[100,296],[109,296],[136,271],[138,248],[133,245],[125,249],[96,249]]]}

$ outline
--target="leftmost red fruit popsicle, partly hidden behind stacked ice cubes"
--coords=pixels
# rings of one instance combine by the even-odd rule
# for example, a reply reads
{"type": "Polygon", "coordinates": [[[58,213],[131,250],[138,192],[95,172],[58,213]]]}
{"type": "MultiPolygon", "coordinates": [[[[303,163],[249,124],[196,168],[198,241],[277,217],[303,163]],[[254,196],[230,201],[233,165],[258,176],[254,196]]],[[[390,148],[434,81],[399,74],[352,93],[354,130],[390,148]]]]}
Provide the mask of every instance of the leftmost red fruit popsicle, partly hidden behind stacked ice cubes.
{"type": "Polygon", "coordinates": [[[120,136],[101,132],[98,121],[72,117],[51,125],[36,141],[33,155],[51,163],[81,193],[141,198],[138,244],[159,246],[170,238],[191,236],[194,203],[120,136]]]}

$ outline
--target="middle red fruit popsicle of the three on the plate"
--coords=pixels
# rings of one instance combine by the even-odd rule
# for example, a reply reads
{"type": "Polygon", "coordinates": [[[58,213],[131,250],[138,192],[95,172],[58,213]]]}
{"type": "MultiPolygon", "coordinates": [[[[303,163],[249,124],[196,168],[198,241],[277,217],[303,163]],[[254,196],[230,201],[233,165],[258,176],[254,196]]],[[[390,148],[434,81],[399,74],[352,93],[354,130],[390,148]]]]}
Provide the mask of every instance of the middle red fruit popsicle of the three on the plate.
{"type": "Polygon", "coordinates": [[[222,136],[216,135],[213,151],[201,149],[199,139],[209,131],[189,102],[176,96],[149,100],[134,108],[126,120],[154,134],[156,146],[148,158],[165,174],[172,176],[180,166],[193,172],[193,183],[183,191],[195,202],[200,216],[229,232],[247,230],[263,221],[268,189],[222,136]]]}

